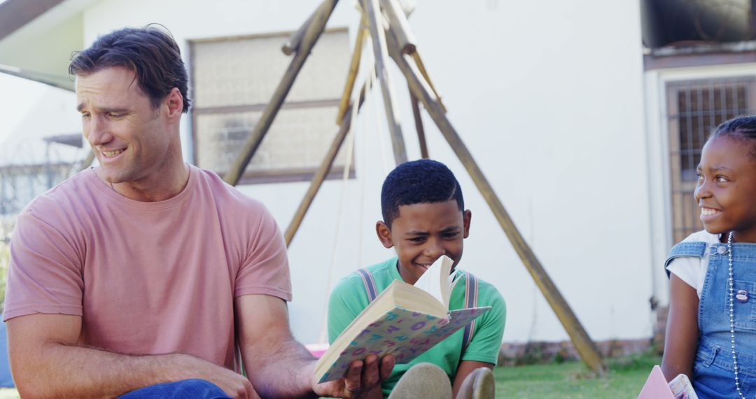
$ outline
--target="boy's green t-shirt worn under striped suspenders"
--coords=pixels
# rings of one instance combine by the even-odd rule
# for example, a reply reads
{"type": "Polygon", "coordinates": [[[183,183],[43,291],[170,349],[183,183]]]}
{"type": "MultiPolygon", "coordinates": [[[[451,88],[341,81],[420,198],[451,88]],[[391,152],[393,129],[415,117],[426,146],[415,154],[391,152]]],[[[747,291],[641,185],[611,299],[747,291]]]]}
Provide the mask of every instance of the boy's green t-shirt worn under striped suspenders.
{"type": "MultiPolygon", "coordinates": [[[[386,289],[392,281],[402,280],[397,270],[397,258],[374,264],[367,270],[373,274],[373,280],[375,280],[379,293],[386,289]]],[[[449,303],[451,310],[465,308],[466,282],[464,272],[457,270],[454,273],[460,274],[460,277],[457,278],[461,280],[451,292],[449,303]]],[[[352,320],[355,320],[355,317],[364,308],[367,308],[369,303],[370,300],[359,274],[352,273],[342,278],[331,292],[328,302],[329,342],[333,343],[346,326],[349,326],[349,323],[352,323],[352,320]]],[[[491,306],[492,308],[476,319],[472,341],[465,348],[464,354],[461,353],[464,329],[460,329],[410,363],[397,364],[391,376],[381,385],[384,396],[391,393],[404,372],[416,363],[429,362],[438,365],[448,374],[452,382],[454,382],[457,366],[459,366],[461,360],[496,364],[501,347],[501,336],[504,332],[504,321],[507,319],[507,306],[496,287],[480,279],[478,279],[478,306],[491,306]]]]}

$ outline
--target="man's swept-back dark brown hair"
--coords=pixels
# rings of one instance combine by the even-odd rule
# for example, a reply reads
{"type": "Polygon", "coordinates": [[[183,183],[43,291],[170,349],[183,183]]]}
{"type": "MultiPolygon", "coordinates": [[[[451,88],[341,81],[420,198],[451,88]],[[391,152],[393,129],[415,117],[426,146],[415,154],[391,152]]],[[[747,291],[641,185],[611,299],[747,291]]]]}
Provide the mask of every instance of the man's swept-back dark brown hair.
{"type": "Polygon", "coordinates": [[[178,88],[184,97],[183,112],[189,110],[187,70],[181,51],[170,33],[159,25],[123,28],[98,36],[89,48],[73,54],[68,73],[86,76],[112,67],[134,71],[139,88],[150,97],[153,108],[178,88]]]}

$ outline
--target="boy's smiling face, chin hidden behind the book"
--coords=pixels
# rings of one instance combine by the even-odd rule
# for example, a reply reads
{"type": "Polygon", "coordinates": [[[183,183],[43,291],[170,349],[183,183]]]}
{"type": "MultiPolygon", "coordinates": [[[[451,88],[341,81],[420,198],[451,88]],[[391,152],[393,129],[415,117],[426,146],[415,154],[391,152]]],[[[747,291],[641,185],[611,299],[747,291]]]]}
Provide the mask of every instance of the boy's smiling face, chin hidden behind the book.
{"type": "Polygon", "coordinates": [[[379,221],[376,233],[383,246],[394,247],[402,280],[414,284],[441,255],[452,258],[457,266],[462,258],[462,240],[469,234],[470,217],[469,210],[460,211],[454,199],[402,205],[391,228],[379,221]]]}

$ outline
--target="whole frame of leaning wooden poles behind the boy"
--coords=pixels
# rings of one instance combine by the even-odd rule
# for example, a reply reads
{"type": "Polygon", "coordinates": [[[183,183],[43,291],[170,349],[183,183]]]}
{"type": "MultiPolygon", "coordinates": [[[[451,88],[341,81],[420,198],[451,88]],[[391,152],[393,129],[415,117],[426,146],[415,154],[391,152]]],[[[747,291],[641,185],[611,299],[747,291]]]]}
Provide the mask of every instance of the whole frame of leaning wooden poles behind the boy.
{"type": "MultiPolygon", "coordinates": [[[[276,91],[274,91],[271,101],[265,107],[265,111],[262,113],[257,125],[243,144],[239,156],[225,175],[224,180],[228,184],[236,185],[238,183],[240,176],[243,174],[244,169],[246,169],[246,165],[249,163],[249,159],[252,159],[262,139],[268,132],[268,128],[270,128],[281,104],[283,104],[284,99],[289,93],[299,70],[302,69],[315,42],[321,36],[327,20],[333,12],[333,8],[336,7],[337,1],[323,0],[311,17],[283,45],[283,52],[285,54],[294,54],[294,57],[278,84],[276,91]]],[[[541,293],[553,309],[556,317],[559,318],[570,339],[572,339],[572,343],[575,345],[578,354],[580,354],[583,361],[591,370],[599,375],[603,375],[606,373],[606,365],[600,351],[588,336],[578,317],[575,316],[575,313],[565,301],[565,298],[562,297],[559,289],[556,288],[543,266],[541,266],[541,262],[538,261],[528,243],[522,238],[522,234],[519,233],[507,210],[504,209],[501,201],[496,196],[496,193],[494,193],[493,187],[488,183],[475,159],[472,158],[472,154],[461,140],[460,135],[457,134],[454,126],[449,122],[445,107],[441,103],[435,88],[433,88],[420,55],[417,53],[417,45],[414,44],[414,38],[409,30],[406,16],[401,11],[401,6],[398,5],[398,0],[361,0],[361,5],[363,10],[362,23],[355,44],[355,52],[352,54],[352,67],[349,70],[341,107],[339,107],[339,120],[337,121],[339,122],[339,131],[337,131],[336,137],[333,138],[330,149],[315,172],[310,182],[310,187],[284,234],[287,246],[291,243],[296,230],[299,229],[299,225],[302,224],[305,213],[309,209],[314,196],[318,193],[321,184],[323,184],[327,173],[330,171],[334,159],[336,159],[336,154],[339,152],[339,148],[342,146],[351,127],[352,113],[359,112],[363,104],[367,85],[361,88],[356,110],[355,104],[349,101],[349,99],[352,97],[351,94],[358,71],[362,41],[369,29],[373,41],[373,52],[375,53],[375,72],[380,80],[383,92],[383,102],[386,108],[394,158],[397,164],[405,162],[407,154],[404,148],[404,139],[401,135],[401,127],[396,117],[397,111],[394,107],[395,94],[392,91],[389,72],[386,68],[388,57],[394,60],[407,80],[413,103],[415,124],[420,138],[420,150],[423,157],[428,156],[428,151],[425,145],[423,125],[420,122],[420,109],[417,107],[418,101],[423,103],[423,107],[438,126],[438,130],[441,131],[446,141],[448,141],[451,149],[454,150],[454,153],[469,173],[472,181],[475,182],[476,187],[478,187],[486,203],[488,203],[491,212],[494,213],[504,234],[507,235],[517,255],[519,255],[522,263],[525,264],[525,268],[528,269],[534,282],[541,289],[541,293]],[[381,11],[386,13],[386,18],[383,17],[381,11]],[[367,28],[365,27],[366,24],[367,28]]]]}

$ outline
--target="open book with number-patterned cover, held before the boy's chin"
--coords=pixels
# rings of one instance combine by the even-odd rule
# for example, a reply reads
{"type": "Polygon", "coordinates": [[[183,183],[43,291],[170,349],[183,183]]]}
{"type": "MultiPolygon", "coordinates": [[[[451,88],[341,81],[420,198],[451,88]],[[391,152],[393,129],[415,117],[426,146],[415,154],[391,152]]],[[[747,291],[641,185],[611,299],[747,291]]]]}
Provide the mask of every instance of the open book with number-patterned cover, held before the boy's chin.
{"type": "Polygon", "coordinates": [[[442,256],[414,286],[395,280],[384,289],[315,364],[318,381],[344,377],[349,363],[368,354],[393,354],[396,363],[409,363],[488,311],[490,306],[449,311],[458,281],[451,274],[453,263],[442,256]]]}

